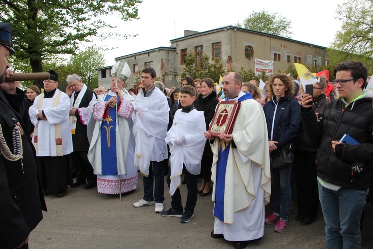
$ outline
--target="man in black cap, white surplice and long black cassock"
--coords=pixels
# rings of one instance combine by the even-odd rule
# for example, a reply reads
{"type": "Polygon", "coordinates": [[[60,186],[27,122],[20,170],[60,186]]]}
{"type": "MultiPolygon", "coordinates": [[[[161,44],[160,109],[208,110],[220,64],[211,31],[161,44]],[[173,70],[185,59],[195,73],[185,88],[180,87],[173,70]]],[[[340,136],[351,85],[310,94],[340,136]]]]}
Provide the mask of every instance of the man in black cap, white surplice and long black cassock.
{"type": "Polygon", "coordinates": [[[70,98],[57,89],[58,74],[50,70],[50,80],[44,81],[44,92],[35,98],[29,109],[35,125],[32,143],[43,194],[66,195],[71,183],[69,154],[73,152],[70,131],[70,98]]]}

